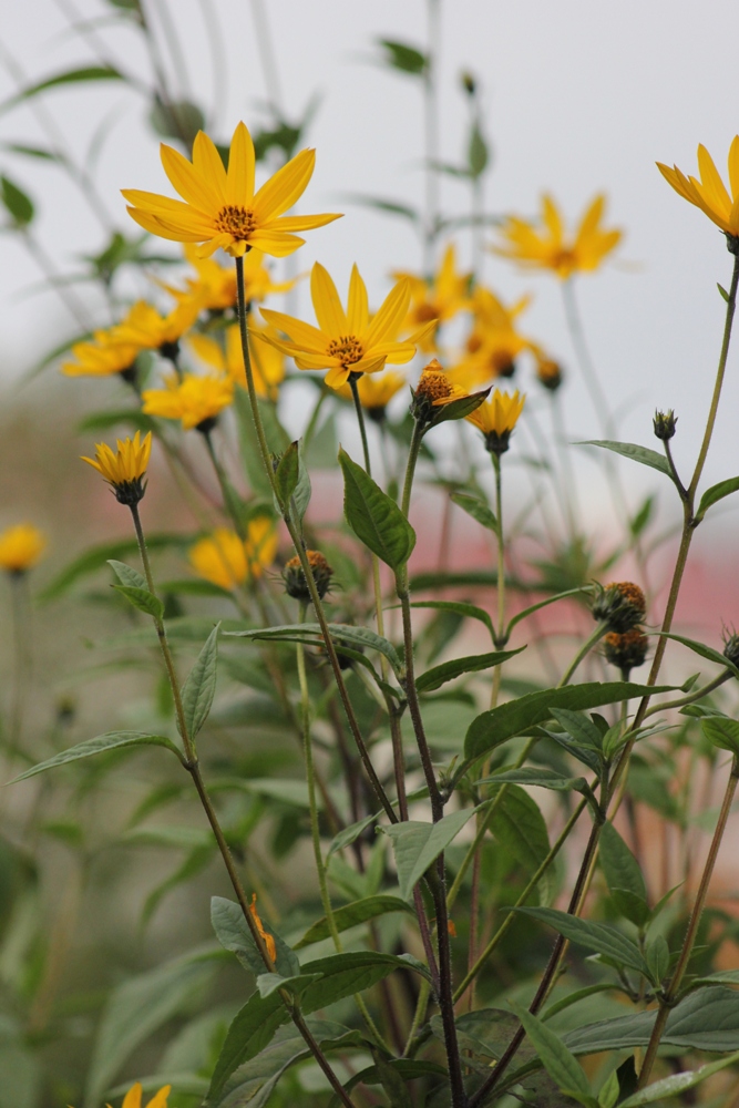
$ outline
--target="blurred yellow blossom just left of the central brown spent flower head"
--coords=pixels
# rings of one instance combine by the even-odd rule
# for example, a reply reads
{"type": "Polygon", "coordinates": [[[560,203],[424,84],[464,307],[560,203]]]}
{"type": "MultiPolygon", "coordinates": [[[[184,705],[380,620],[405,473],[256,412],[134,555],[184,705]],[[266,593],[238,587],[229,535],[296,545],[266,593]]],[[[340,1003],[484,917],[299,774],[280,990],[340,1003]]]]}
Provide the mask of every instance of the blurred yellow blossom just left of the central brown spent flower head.
{"type": "Polygon", "coordinates": [[[193,568],[205,581],[229,592],[247,579],[260,577],[277,554],[277,532],[271,520],[258,515],[247,525],[242,540],[227,527],[217,527],[189,551],[193,568]]]}

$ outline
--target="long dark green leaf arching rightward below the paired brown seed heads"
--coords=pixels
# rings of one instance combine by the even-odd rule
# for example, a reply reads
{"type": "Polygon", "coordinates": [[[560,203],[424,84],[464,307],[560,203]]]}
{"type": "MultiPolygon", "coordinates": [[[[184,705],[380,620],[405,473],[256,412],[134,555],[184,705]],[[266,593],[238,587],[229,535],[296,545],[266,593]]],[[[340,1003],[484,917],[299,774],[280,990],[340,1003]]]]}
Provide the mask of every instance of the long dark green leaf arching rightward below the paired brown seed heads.
{"type": "Polygon", "coordinates": [[[678,688],[677,685],[635,685],[633,681],[587,681],[583,685],[566,685],[560,689],[527,693],[516,700],[509,700],[497,708],[483,711],[473,719],[464,741],[464,753],[470,760],[481,758],[507,739],[523,735],[537,724],[551,719],[555,708],[574,711],[598,708],[635,697],[674,693],[678,688]]]}

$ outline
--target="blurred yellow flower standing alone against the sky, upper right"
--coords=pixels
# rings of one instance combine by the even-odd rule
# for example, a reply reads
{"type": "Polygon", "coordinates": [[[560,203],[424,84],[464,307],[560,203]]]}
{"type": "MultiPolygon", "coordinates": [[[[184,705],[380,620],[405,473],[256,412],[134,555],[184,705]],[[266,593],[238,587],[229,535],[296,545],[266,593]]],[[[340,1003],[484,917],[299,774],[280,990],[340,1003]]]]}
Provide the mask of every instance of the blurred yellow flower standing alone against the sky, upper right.
{"type": "Polygon", "coordinates": [[[605,203],[605,196],[596,196],[574,238],[567,238],[556,204],[545,195],[542,197],[544,226],[540,228],[519,216],[509,216],[501,230],[505,245],[493,247],[493,253],[512,258],[527,269],[551,269],[562,280],[574,273],[597,269],[622,238],[620,230],[605,230],[601,226],[605,203]]]}

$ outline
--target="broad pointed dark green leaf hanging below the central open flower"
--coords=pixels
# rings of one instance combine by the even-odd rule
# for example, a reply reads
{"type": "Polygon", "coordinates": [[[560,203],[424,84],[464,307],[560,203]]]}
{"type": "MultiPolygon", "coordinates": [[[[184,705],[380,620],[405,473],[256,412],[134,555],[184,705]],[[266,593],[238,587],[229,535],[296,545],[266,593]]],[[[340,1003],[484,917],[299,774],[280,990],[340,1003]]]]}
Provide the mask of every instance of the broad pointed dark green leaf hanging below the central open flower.
{"type": "Polygon", "coordinates": [[[415,532],[394,500],[343,450],[339,451],[339,464],[343,471],[343,511],[349,526],[386,565],[399,570],[411,556],[415,532]]]}

